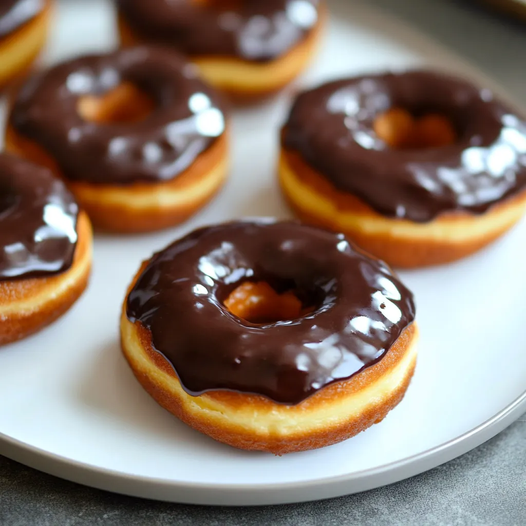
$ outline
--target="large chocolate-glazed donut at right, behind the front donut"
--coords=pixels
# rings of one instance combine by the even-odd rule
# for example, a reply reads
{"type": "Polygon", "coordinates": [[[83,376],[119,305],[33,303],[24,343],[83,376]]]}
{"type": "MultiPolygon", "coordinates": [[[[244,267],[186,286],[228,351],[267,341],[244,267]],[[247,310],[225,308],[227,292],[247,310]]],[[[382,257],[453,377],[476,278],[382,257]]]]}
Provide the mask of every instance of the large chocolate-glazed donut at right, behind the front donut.
{"type": "Polygon", "coordinates": [[[395,267],[468,256],[526,207],[526,122],[486,88],[414,70],[301,93],[281,130],[298,216],[395,267]]]}

